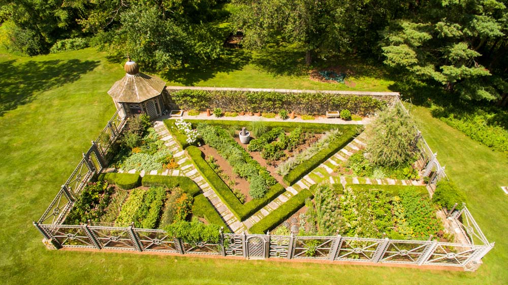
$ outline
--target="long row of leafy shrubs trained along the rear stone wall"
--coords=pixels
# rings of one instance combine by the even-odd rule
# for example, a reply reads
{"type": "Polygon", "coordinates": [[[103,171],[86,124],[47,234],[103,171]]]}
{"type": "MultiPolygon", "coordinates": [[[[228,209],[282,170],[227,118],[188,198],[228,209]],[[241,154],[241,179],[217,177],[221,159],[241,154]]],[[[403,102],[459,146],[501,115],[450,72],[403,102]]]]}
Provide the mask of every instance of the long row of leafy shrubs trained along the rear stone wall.
{"type": "Polygon", "coordinates": [[[231,112],[271,112],[291,110],[298,114],[319,115],[329,110],[347,109],[354,114],[374,114],[387,102],[372,96],[266,91],[179,90],[170,96],[180,109],[220,108],[231,112]]]}

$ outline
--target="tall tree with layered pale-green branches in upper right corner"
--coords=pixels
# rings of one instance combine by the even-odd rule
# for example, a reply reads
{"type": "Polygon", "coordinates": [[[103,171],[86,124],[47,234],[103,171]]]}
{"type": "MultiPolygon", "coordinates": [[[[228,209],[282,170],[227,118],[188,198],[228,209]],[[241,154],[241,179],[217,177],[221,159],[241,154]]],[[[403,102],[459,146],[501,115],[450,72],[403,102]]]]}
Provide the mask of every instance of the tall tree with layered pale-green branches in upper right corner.
{"type": "Polygon", "coordinates": [[[506,42],[505,11],[496,0],[427,2],[416,19],[395,21],[385,30],[385,63],[465,99],[495,99],[500,90],[495,86],[503,86],[503,80],[489,78],[489,69],[496,68],[492,51],[506,42]]]}

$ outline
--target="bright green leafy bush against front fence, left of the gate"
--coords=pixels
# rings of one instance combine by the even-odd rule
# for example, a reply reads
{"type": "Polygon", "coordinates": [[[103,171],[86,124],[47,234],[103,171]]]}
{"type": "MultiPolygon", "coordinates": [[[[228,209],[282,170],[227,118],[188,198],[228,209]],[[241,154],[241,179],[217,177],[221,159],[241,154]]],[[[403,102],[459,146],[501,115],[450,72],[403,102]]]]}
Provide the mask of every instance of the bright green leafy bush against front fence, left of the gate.
{"type": "Polygon", "coordinates": [[[218,243],[220,227],[214,224],[205,225],[197,220],[192,222],[178,221],[164,228],[171,236],[184,242],[196,244],[198,242],[218,243]]]}

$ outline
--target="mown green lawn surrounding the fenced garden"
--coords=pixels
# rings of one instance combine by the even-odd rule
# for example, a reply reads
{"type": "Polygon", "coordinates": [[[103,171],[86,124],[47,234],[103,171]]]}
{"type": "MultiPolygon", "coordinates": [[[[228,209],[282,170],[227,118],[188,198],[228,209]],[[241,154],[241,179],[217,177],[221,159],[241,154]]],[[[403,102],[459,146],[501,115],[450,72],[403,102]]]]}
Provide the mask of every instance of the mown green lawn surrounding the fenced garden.
{"type": "MultiPolygon", "coordinates": [[[[33,58],[0,52],[0,66],[0,283],[507,283],[508,242],[503,238],[508,205],[499,186],[508,185],[508,159],[432,118],[420,107],[412,112],[424,136],[438,151],[439,161],[447,165],[449,176],[468,194],[468,207],[487,238],[496,241],[477,272],[48,251],[31,221],[39,219],[90,139],[114,113],[106,92],[124,72],[121,65],[109,62],[105,54],[93,49],[33,58]]],[[[217,72],[196,84],[230,82],[231,87],[266,88],[309,88],[306,84],[313,84],[257,68],[247,64],[229,74],[217,72]]],[[[376,78],[366,77],[365,81],[387,85],[376,78]]],[[[328,86],[316,88],[332,89],[328,86]]]]}

